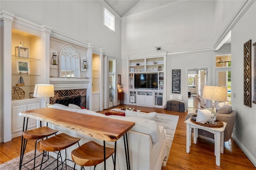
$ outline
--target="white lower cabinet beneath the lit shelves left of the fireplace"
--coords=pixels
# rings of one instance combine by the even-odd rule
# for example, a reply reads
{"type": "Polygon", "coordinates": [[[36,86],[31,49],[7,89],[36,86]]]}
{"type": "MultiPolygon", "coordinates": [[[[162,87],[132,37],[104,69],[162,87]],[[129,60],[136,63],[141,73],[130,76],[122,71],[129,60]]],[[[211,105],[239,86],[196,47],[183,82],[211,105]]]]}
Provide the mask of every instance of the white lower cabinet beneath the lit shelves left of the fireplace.
{"type": "MultiPolygon", "coordinates": [[[[26,99],[12,101],[12,138],[22,135],[24,117],[19,116],[22,111],[41,108],[42,99],[26,99]]],[[[28,119],[28,130],[36,128],[37,121],[28,119]]]]}

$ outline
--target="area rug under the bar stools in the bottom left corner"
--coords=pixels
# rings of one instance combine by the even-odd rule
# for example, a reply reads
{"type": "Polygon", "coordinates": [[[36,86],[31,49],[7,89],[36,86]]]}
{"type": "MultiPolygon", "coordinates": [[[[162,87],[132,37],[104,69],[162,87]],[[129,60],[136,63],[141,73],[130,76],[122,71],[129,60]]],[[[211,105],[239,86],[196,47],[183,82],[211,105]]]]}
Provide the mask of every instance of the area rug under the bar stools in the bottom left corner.
{"type": "MultiPolygon", "coordinates": [[[[36,155],[41,154],[41,152],[36,151],[36,155]]],[[[65,156],[65,155],[64,155],[65,156]]],[[[23,158],[23,162],[27,162],[28,160],[30,160],[31,158],[34,157],[34,150],[24,154],[24,158],[23,158]]],[[[36,165],[41,163],[42,160],[42,156],[39,156],[38,158],[36,158],[36,165]]],[[[52,162],[54,160],[53,157],[49,156],[49,160],[47,162],[45,162],[42,165],[42,169],[48,165],[48,162],[52,162]]],[[[60,161],[59,161],[60,162],[60,161]]],[[[0,170],[18,170],[19,169],[19,164],[20,164],[20,156],[18,156],[17,158],[14,158],[12,160],[9,160],[8,162],[4,162],[3,164],[0,164],[0,170]]],[[[60,164],[60,163],[59,163],[60,164]]],[[[30,161],[28,164],[26,164],[26,166],[28,168],[33,168],[34,162],[30,161]]],[[[54,168],[57,167],[57,162],[55,161],[53,164],[51,164],[50,166],[48,166],[47,168],[45,168],[45,170],[53,170],[54,168]]],[[[60,166],[61,168],[61,166],[60,166]]],[[[59,168],[59,169],[60,169],[59,168]]],[[[65,164],[63,165],[63,169],[65,169],[66,166],[65,164]]],[[[27,170],[27,168],[25,168],[24,166],[22,166],[21,168],[22,170],[27,170]]],[[[38,166],[37,168],[35,168],[35,170],[40,170],[40,166],[38,166]]],[[[73,170],[72,167],[67,166],[67,170],[73,170]]]]}

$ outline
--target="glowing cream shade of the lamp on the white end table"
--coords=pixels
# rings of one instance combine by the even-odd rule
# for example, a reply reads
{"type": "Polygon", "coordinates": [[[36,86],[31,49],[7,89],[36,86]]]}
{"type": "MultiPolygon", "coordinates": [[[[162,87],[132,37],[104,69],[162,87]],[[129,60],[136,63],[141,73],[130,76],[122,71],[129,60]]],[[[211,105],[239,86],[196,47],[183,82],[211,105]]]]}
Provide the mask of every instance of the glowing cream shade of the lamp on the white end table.
{"type": "Polygon", "coordinates": [[[227,101],[227,87],[204,86],[202,98],[212,101],[227,101]]]}

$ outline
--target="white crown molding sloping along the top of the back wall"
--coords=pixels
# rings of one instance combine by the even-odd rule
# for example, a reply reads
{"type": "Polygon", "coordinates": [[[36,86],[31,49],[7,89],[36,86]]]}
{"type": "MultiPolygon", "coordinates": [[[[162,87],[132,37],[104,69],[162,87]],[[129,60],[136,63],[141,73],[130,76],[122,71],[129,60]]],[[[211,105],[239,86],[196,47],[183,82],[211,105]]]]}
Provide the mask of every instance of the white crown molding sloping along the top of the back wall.
{"type": "Polygon", "coordinates": [[[128,15],[128,16],[124,16],[124,17],[122,17],[122,20],[128,20],[128,19],[131,19],[131,18],[135,18],[135,17],[138,17],[138,16],[142,16],[142,15],[145,15],[145,14],[148,14],[148,13],[151,13],[151,12],[156,12],[156,11],[163,10],[163,9],[166,9],[166,8],[170,8],[170,7],[173,7],[173,6],[177,6],[177,5],[180,5],[180,4],[183,4],[183,3],[186,3],[186,2],[190,2],[190,1],[192,1],[192,0],[178,0],[178,1],[175,1],[175,2],[171,2],[169,4],[158,6],[156,8],[152,8],[152,9],[149,9],[149,10],[138,12],[136,14],[131,14],[131,15],[128,15]]]}

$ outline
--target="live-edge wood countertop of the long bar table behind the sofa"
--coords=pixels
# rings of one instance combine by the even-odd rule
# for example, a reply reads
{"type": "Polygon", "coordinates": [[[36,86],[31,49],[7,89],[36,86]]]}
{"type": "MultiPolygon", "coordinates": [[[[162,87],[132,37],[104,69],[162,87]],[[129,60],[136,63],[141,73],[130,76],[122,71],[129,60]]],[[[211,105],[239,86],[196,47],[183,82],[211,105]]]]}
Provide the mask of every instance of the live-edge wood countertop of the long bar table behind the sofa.
{"type": "Polygon", "coordinates": [[[53,108],[41,108],[19,113],[20,116],[36,119],[52,125],[74,130],[86,136],[105,141],[116,141],[134,127],[134,122],[121,121],[108,117],[99,117],[64,111],[53,108]]]}

